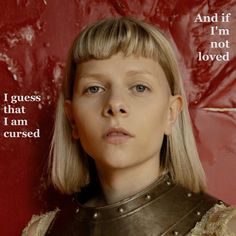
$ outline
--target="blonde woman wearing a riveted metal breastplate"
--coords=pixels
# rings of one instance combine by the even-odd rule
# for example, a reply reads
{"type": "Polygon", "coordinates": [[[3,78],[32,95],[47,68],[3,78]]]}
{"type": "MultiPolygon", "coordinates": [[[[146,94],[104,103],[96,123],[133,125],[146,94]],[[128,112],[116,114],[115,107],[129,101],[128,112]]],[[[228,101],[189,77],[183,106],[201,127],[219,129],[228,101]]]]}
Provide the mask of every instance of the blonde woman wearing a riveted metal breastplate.
{"type": "Polygon", "coordinates": [[[105,19],[75,39],[51,154],[52,182],[74,204],[23,235],[236,232],[236,209],[204,193],[171,46],[145,22],[105,19]]]}

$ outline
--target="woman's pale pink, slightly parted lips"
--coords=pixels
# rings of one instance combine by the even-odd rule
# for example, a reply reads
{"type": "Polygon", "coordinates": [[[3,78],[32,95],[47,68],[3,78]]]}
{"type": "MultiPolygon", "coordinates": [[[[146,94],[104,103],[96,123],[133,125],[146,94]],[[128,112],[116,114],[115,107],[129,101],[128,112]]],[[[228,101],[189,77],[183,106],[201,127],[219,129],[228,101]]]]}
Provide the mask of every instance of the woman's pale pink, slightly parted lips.
{"type": "Polygon", "coordinates": [[[103,138],[110,144],[122,144],[127,142],[130,138],[133,138],[130,132],[123,128],[109,128],[103,138]]]}

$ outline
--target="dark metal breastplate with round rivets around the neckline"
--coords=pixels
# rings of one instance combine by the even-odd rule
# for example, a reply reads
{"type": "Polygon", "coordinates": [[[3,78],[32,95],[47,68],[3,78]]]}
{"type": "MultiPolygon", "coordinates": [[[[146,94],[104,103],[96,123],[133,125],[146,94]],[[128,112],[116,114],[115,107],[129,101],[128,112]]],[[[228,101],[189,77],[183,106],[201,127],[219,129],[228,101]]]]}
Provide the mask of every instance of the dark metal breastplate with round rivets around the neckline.
{"type": "Polygon", "coordinates": [[[215,203],[215,198],[189,192],[166,175],[121,202],[96,208],[76,204],[62,210],[46,235],[186,235],[215,203]]]}

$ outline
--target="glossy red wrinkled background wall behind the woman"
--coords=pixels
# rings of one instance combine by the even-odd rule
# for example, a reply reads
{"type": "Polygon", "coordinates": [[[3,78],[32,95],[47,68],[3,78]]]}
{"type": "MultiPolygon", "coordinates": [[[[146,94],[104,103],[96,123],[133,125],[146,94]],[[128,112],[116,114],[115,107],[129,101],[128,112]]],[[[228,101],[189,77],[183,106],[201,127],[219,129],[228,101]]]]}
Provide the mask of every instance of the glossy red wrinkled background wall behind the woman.
{"type": "MultiPolygon", "coordinates": [[[[85,25],[108,16],[132,15],[152,22],[172,40],[209,192],[236,203],[236,1],[235,0],[0,0],[0,235],[20,235],[32,214],[60,206],[68,198],[46,184],[46,162],[53,114],[69,45],[85,25]],[[210,36],[198,13],[231,13],[230,35],[210,36]],[[210,41],[230,41],[212,50],[210,41]],[[197,52],[225,53],[230,61],[199,62],[197,52]],[[3,94],[41,95],[40,102],[18,102],[28,126],[4,126],[3,94]],[[213,108],[213,109],[206,109],[213,108]],[[40,138],[4,138],[4,131],[40,129],[40,138]]],[[[212,24],[212,23],[211,23],[212,24]]],[[[212,24],[213,25],[213,24],[212,24]]]]}

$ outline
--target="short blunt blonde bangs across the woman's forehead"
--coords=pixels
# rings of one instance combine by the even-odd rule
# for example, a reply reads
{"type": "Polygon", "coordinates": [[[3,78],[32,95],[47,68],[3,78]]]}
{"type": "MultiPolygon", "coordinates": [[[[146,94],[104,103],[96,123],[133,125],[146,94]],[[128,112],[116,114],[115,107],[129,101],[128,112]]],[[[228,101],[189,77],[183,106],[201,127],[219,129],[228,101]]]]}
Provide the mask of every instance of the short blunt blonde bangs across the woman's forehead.
{"type": "Polygon", "coordinates": [[[144,27],[129,18],[105,20],[86,28],[77,38],[73,51],[75,63],[107,59],[118,52],[158,60],[160,46],[144,27]]]}

